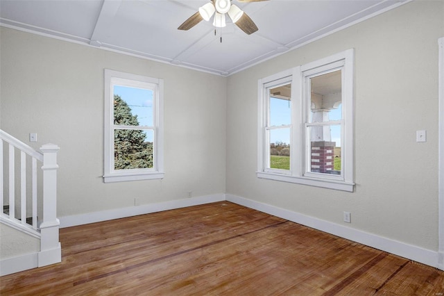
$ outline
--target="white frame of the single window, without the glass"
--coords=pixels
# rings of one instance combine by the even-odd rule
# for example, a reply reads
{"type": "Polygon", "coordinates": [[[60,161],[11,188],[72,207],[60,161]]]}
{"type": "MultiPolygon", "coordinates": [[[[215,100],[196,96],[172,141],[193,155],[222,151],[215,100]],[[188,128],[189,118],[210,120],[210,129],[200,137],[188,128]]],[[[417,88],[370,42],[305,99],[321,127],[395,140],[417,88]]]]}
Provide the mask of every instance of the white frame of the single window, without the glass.
{"type": "Polygon", "coordinates": [[[164,81],[147,76],[105,69],[104,174],[105,183],[164,178],[163,96],[164,81]],[[153,126],[128,126],[153,131],[153,167],[114,170],[114,85],[153,90],[153,126]]]}

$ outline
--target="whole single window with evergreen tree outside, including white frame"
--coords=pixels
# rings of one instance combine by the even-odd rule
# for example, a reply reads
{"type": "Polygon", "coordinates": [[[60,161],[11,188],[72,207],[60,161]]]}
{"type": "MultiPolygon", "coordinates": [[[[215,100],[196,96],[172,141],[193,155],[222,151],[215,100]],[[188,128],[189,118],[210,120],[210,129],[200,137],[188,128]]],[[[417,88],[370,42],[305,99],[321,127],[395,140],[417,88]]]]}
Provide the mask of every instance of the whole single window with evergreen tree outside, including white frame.
{"type": "Polygon", "coordinates": [[[163,81],[105,69],[105,183],[162,179],[163,81]]]}

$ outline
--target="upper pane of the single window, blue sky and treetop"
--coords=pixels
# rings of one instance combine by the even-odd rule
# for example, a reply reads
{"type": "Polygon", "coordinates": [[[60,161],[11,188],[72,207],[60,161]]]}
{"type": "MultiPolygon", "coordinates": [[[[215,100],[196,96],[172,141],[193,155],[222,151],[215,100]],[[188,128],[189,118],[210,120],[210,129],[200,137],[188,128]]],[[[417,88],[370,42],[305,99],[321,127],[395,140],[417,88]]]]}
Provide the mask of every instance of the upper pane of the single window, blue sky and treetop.
{"type": "Polygon", "coordinates": [[[114,124],[153,126],[153,90],[114,85],[114,124]]]}

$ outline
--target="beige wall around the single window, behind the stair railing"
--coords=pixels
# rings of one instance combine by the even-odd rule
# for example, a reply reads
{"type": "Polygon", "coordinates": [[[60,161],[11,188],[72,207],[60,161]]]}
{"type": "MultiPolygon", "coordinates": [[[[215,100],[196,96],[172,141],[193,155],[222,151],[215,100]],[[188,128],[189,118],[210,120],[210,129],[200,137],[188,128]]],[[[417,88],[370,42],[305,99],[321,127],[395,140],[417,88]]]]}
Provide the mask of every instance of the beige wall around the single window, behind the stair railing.
{"type": "Polygon", "coordinates": [[[225,78],[4,27],[0,50],[1,129],[60,146],[59,217],[225,192],[225,78]],[[105,68],[164,79],[162,181],[103,183],[105,68]]]}

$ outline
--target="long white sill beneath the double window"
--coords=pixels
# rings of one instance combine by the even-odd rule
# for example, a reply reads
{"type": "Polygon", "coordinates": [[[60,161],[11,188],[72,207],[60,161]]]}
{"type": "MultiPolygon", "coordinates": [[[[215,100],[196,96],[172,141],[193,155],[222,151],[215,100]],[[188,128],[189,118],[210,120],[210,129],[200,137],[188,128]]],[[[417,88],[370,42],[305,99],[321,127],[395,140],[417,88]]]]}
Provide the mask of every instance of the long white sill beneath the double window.
{"type": "Polygon", "coordinates": [[[286,174],[277,174],[271,172],[257,172],[257,177],[260,179],[270,179],[275,181],[296,183],[348,192],[353,192],[353,190],[355,189],[355,183],[327,179],[315,179],[306,176],[290,176],[286,174]]]}

